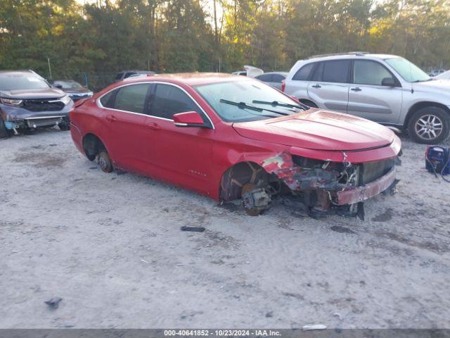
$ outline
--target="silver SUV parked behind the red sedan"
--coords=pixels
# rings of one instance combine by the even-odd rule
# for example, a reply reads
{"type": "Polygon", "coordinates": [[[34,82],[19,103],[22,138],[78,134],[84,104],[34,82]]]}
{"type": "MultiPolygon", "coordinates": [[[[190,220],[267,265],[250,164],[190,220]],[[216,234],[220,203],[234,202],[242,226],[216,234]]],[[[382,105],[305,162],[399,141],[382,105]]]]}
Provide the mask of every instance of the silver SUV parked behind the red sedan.
{"type": "Polygon", "coordinates": [[[408,130],[423,144],[449,136],[450,81],[435,80],[399,56],[314,56],[295,63],[283,90],[312,107],[408,130]]]}

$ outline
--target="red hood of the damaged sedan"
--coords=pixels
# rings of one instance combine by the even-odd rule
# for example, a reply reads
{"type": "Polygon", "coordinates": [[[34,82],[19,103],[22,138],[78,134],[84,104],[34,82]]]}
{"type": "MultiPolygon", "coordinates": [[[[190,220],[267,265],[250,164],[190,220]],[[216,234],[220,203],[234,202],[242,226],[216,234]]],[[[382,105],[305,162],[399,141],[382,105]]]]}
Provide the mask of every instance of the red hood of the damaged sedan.
{"type": "Polygon", "coordinates": [[[243,137],[300,148],[351,151],[387,146],[392,130],[356,116],[310,108],[295,115],[234,123],[243,137]]]}

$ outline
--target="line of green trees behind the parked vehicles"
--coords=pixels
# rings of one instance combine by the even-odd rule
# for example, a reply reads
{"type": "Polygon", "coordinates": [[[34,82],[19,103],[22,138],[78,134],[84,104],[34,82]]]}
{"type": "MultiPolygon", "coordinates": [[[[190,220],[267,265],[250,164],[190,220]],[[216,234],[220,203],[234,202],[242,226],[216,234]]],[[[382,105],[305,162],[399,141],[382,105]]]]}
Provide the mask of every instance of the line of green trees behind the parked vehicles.
{"type": "Polygon", "coordinates": [[[0,69],[44,77],[289,70],[301,58],[345,51],[450,68],[450,1],[0,1],[0,69]]]}

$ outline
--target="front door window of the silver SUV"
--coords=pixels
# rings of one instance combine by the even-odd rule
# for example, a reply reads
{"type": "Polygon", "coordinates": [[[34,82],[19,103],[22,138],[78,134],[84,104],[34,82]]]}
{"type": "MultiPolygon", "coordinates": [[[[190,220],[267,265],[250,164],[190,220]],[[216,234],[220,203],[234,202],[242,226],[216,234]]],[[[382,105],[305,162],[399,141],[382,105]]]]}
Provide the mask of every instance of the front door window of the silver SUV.
{"type": "Polygon", "coordinates": [[[353,82],[381,86],[385,77],[393,77],[385,66],[376,61],[355,60],[353,63],[353,82]]]}

